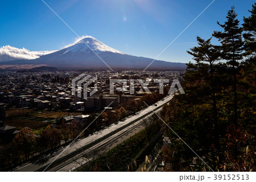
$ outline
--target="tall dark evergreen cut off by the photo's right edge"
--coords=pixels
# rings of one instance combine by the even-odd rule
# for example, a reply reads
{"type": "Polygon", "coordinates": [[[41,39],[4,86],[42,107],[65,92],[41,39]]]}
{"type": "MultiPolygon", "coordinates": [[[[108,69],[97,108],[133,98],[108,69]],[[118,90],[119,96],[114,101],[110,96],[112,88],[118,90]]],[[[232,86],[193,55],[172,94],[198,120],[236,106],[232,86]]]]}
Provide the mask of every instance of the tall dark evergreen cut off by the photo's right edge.
{"type": "Polygon", "coordinates": [[[245,39],[245,61],[242,68],[242,96],[243,96],[243,124],[249,126],[250,133],[255,135],[255,118],[253,110],[256,110],[256,3],[253,8],[249,10],[250,16],[243,17],[243,38],[245,39]]]}

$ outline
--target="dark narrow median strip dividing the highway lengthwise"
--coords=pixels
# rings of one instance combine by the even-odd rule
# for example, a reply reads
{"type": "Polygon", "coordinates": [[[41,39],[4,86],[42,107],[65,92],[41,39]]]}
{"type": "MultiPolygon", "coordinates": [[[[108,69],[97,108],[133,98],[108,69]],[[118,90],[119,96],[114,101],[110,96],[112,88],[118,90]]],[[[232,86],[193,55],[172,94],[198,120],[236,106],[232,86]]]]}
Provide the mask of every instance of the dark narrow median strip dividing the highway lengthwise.
{"type": "MultiPolygon", "coordinates": [[[[164,104],[167,104],[168,102],[170,102],[170,101],[164,102],[164,104]]],[[[160,107],[162,107],[164,104],[162,104],[162,105],[156,107],[155,109],[153,109],[153,111],[158,110],[158,109],[159,109],[160,107]]],[[[54,166],[56,166],[57,164],[59,164],[59,163],[61,163],[61,162],[64,162],[65,160],[67,160],[67,159],[69,159],[69,158],[72,158],[73,156],[76,156],[76,155],[79,154],[80,152],[82,152],[82,151],[88,149],[89,147],[92,147],[94,144],[100,143],[102,140],[111,137],[112,135],[114,135],[114,134],[118,133],[119,131],[125,129],[126,127],[128,127],[128,126],[130,126],[130,125],[133,125],[133,123],[135,123],[135,122],[141,120],[142,118],[146,117],[147,115],[150,115],[151,113],[153,113],[153,111],[151,110],[151,111],[148,112],[147,114],[144,114],[144,115],[142,115],[141,117],[139,117],[139,118],[137,118],[137,119],[134,119],[133,121],[127,123],[127,124],[124,125],[124,126],[119,127],[118,129],[116,129],[116,130],[110,132],[109,134],[106,134],[105,136],[103,136],[103,137],[101,137],[101,138],[99,138],[99,139],[97,139],[97,140],[94,140],[92,143],[86,144],[84,147],[81,147],[81,148],[77,149],[76,151],[73,151],[73,152],[71,152],[71,153],[69,153],[69,154],[63,156],[62,158],[55,160],[55,161],[51,164],[51,168],[54,167],[54,166]]],[[[46,167],[47,167],[47,166],[44,166],[44,167],[42,167],[42,168],[37,169],[36,171],[43,171],[46,167]]]]}

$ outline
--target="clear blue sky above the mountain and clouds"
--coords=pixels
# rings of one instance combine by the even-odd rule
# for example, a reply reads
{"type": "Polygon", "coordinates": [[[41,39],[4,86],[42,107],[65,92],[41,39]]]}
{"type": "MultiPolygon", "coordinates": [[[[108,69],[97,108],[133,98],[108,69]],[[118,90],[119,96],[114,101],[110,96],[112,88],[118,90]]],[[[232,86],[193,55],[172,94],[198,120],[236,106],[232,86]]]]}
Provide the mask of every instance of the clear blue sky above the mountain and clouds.
{"type": "MultiPolygon", "coordinates": [[[[212,0],[44,0],[80,36],[90,35],[118,51],[155,58],[212,0]]],[[[216,0],[158,60],[188,63],[196,36],[221,30],[231,6],[238,19],[248,16],[253,0],[216,0]]],[[[1,0],[0,47],[30,51],[61,49],[77,36],[41,1],[1,0]]]]}

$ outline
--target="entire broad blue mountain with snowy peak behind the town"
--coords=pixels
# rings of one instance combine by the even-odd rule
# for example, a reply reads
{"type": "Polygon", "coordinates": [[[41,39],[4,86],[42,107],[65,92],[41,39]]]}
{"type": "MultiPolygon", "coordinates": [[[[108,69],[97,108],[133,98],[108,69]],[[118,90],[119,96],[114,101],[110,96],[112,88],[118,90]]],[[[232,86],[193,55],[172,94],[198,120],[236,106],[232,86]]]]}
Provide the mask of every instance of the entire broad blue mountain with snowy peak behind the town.
{"type": "MultiPolygon", "coordinates": [[[[31,65],[32,67],[44,65],[58,69],[109,69],[100,58],[112,69],[144,69],[154,60],[127,55],[106,46],[92,36],[85,36],[76,43],[37,59],[2,62],[0,68],[1,65],[9,65],[9,68],[11,65],[19,65],[19,68],[22,65],[30,65],[30,68],[31,65]]],[[[183,69],[185,67],[184,63],[155,60],[148,69],[183,69]]]]}

